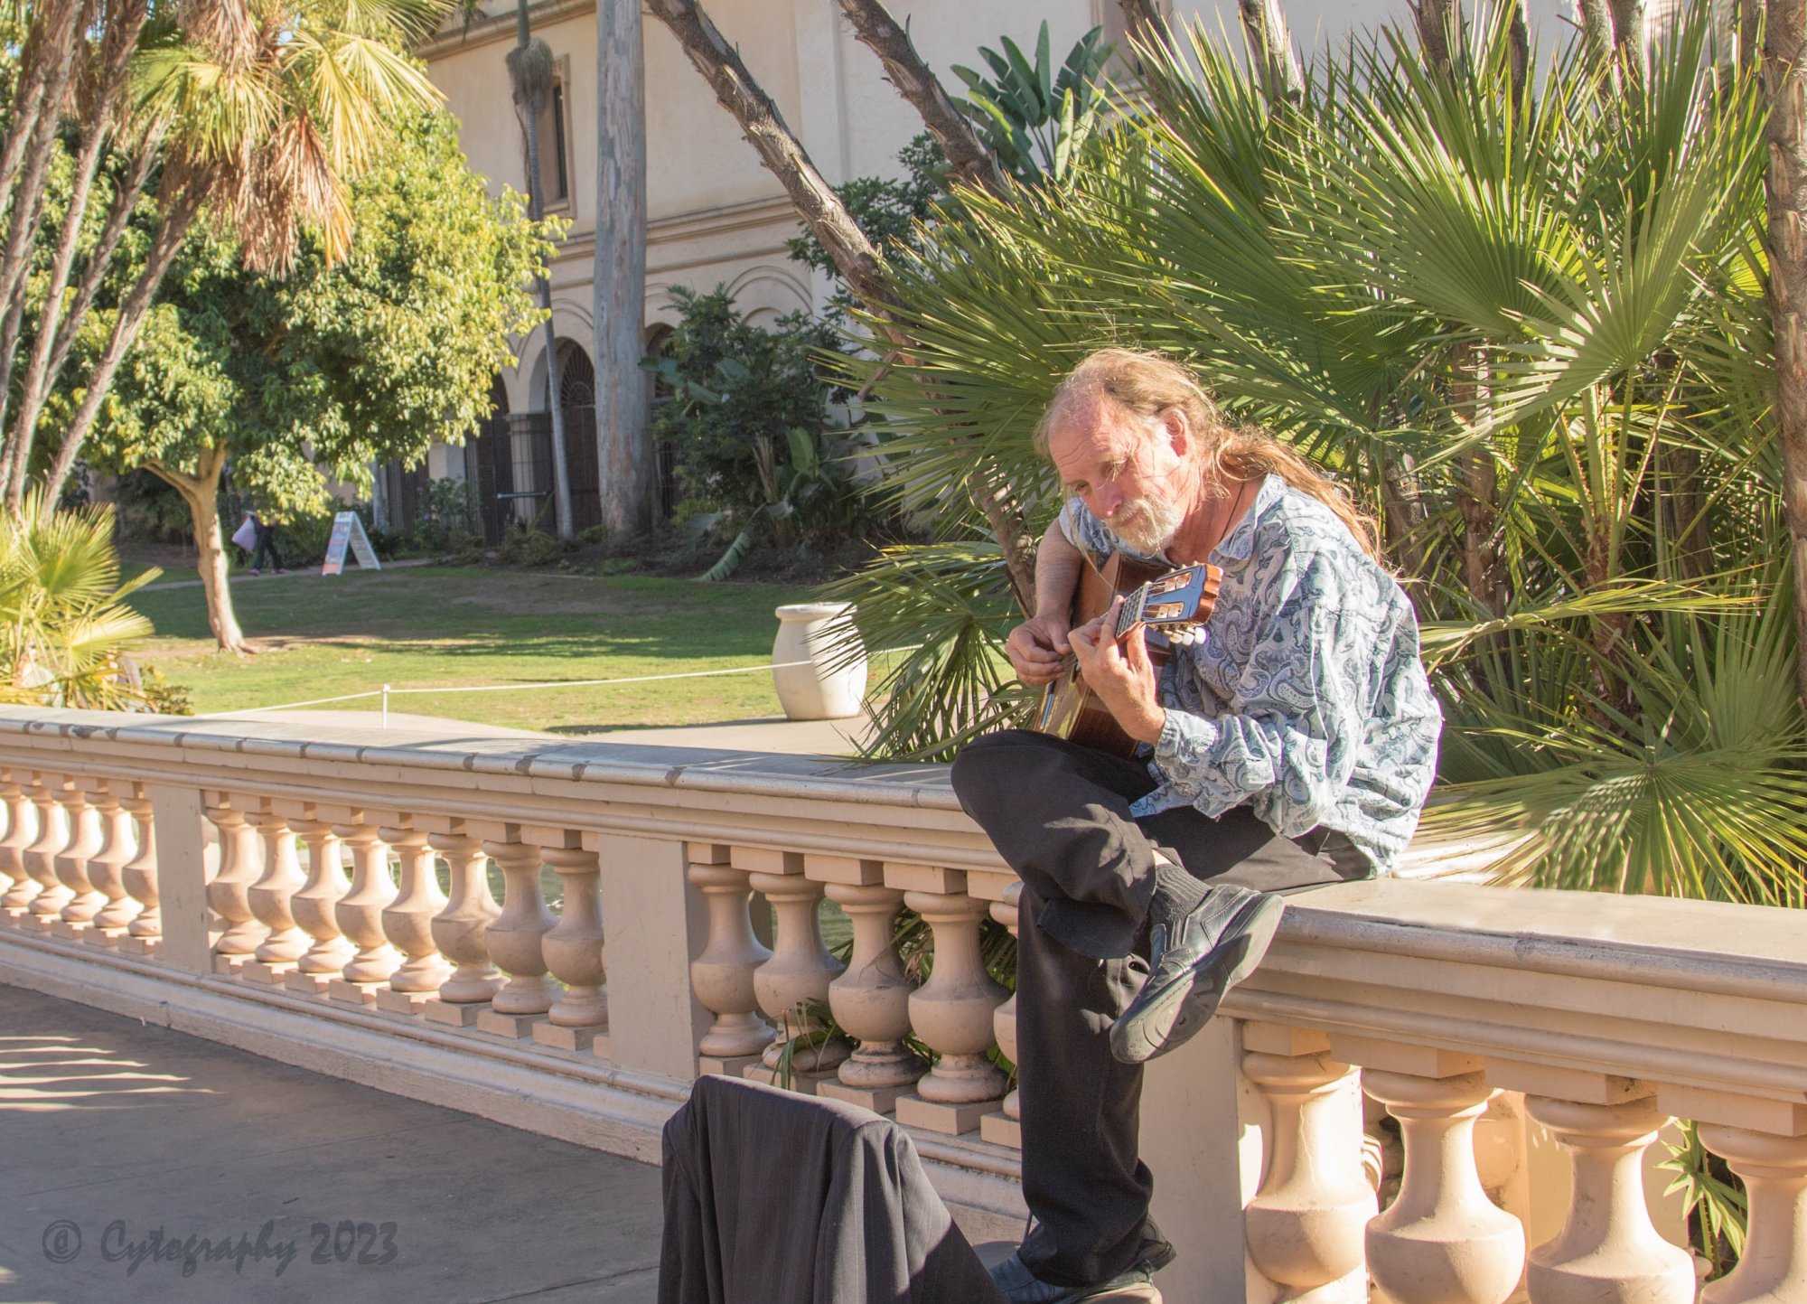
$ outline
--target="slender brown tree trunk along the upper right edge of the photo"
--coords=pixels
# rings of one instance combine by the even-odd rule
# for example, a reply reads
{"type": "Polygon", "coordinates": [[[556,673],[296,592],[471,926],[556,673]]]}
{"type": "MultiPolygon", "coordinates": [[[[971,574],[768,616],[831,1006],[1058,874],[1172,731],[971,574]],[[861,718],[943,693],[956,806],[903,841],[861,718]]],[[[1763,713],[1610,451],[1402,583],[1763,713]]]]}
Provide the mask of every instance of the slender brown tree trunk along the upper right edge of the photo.
{"type": "Polygon", "coordinates": [[[1771,0],[1764,27],[1769,96],[1769,311],[1776,336],[1782,504],[1794,556],[1796,686],[1807,703],[1807,4],[1771,0]]]}

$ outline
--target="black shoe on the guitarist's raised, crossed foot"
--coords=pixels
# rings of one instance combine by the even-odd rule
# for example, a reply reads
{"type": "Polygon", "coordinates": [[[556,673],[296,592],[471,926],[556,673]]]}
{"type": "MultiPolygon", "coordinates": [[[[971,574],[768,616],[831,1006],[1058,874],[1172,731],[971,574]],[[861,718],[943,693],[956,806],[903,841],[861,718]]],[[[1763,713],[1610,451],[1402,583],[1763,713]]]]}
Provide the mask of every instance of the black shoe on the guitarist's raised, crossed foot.
{"type": "Polygon", "coordinates": [[[1225,883],[1182,919],[1156,923],[1147,981],[1111,1024],[1111,1055],[1142,1064],[1191,1040],[1267,955],[1283,908],[1278,896],[1225,883]]]}

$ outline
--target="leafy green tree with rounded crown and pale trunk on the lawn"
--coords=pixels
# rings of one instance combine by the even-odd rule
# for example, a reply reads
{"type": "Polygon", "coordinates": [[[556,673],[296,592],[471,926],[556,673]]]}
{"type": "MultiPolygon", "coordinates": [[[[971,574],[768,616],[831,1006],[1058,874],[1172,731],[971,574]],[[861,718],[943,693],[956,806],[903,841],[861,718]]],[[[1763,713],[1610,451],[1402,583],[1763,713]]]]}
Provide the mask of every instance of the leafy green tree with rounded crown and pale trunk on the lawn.
{"type": "Polygon", "coordinates": [[[98,468],[146,468],[181,491],[222,648],[244,647],[215,506],[228,464],[280,518],[318,506],[322,471],[367,482],[372,461],[463,442],[513,365],[510,336],[538,320],[526,287],[549,229],[519,195],[490,199],[448,116],[396,128],[349,219],[343,262],[305,235],[286,276],[246,271],[229,240],[192,240],[89,444],[98,468]]]}

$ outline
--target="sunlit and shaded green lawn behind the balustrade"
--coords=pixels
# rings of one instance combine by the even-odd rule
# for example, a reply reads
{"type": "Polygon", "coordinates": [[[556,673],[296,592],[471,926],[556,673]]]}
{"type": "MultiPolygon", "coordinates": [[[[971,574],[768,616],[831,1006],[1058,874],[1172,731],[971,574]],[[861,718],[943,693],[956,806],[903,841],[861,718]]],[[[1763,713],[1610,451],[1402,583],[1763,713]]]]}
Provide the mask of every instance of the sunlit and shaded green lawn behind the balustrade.
{"type": "MultiPolygon", "coordinates": [[[[157,636],[143,657],[188,688],[197,713],[381,688],[622,679],[768,665],[781,585],[408,567],[235,583],[246,634],[266,650],[220,656],[199,587],[132,603],[157,636]]],[[[376,710],[378,703],[343,703],[376,710]]],[[[585,733],[781,715],[770,672],[593,688],[396,695],[414,715],[585,733]]]]}

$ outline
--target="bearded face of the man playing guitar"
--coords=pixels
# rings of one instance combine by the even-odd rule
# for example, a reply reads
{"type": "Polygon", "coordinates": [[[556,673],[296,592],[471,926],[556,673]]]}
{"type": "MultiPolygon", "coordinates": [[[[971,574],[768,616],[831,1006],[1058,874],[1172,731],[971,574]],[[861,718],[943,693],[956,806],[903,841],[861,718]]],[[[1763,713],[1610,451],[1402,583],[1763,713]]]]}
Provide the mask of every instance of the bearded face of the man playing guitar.
{"type": "Polygon", "coordinates": [[[1075,410],[1048,433],[1048,455],[1063,488],[1117,538],[1138,553],[1160,553],[1185,522],[1184,424],[1178,414],[1156,428],[1100,399],[1075,410]]]}

